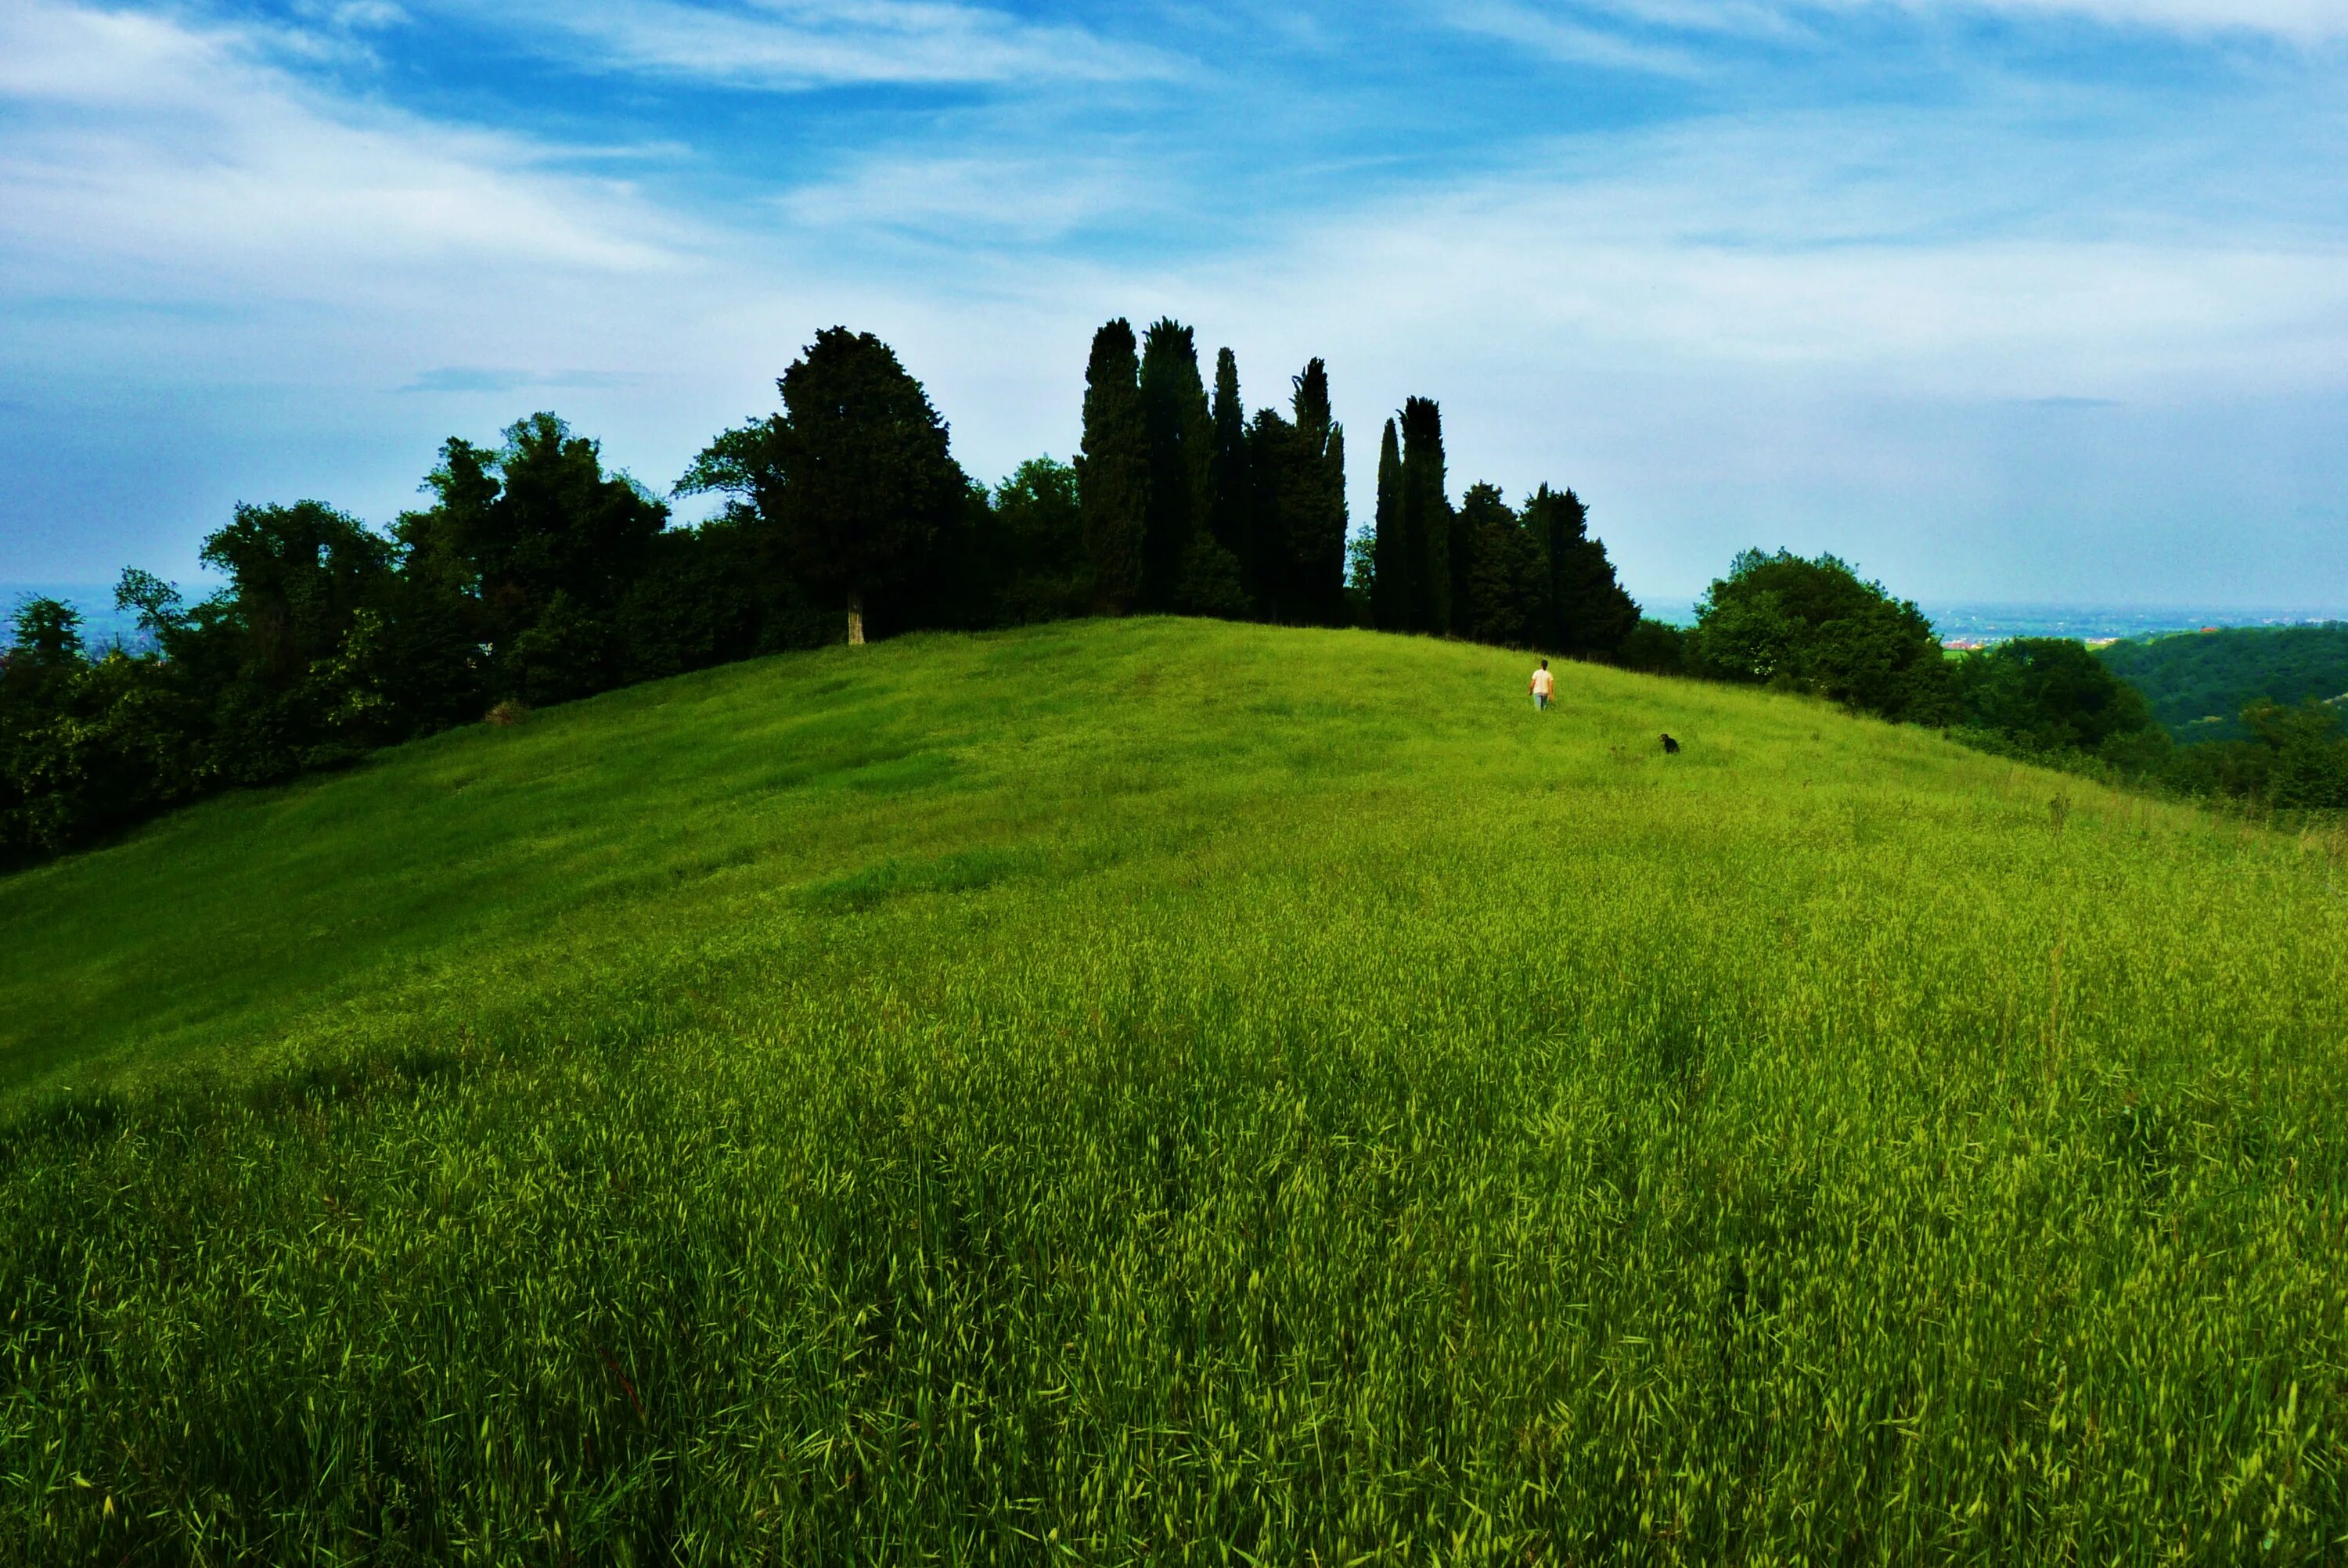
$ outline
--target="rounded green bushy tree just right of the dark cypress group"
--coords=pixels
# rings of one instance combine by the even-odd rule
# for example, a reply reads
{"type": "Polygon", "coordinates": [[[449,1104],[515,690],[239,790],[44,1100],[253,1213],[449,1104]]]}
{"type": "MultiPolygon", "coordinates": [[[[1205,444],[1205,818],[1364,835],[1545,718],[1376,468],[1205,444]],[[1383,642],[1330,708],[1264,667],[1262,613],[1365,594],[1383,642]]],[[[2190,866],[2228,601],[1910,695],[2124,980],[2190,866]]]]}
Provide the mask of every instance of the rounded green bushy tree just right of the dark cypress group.
{"type": "Polygon", "coordinates": [[[1831,554],[1747,549],[1707,589],[1688,643],[1702,674],[1810,690],[1902,723],[1956,716],[1932,622],[1831,554]]]}

